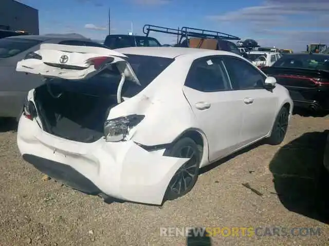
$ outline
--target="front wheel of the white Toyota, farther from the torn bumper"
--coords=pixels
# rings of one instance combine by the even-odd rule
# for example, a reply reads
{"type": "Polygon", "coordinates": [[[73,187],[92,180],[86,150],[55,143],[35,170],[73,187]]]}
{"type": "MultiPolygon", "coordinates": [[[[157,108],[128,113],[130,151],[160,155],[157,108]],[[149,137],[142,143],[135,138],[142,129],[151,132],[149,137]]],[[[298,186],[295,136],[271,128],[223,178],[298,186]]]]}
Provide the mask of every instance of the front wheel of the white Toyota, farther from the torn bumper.
{"type": "Polygon", "coordinates": [[[288,128],[289,121],[289,111],[287,108],[283,107],[274,122],[272,127],[272,132],[268,138],[268,144],[270,145],[280,145],[283,141],[288,128]]]}

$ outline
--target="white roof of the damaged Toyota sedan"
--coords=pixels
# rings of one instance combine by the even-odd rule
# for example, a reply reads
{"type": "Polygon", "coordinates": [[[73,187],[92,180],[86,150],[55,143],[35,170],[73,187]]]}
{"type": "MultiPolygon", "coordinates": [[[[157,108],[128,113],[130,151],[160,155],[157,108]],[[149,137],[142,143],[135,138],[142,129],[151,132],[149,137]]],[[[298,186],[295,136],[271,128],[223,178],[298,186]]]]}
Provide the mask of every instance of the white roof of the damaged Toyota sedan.
{"type": "Polygon", "coordinates": [[[149,55],[166,58],[176,58],[182,55],[192,55],[199,57],[202,54],[206,55],[232,55],[240,57],[232,52],[221,51],[221,50],[207,50],[198,48],[182,48],[182,47],[128,47],[115,49],[122,54],[131,55],[149,55]]]}

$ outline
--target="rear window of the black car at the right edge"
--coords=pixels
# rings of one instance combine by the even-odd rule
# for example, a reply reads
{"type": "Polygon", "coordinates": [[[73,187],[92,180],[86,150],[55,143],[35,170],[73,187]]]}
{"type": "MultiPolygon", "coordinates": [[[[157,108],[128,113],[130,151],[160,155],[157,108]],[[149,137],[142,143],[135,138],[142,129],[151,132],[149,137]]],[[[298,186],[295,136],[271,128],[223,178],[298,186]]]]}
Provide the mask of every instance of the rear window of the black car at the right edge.
{"type": "Polygon", "coordinates": [[[285,55],[273,67],[329,70],[329,55],[285,55]]]}

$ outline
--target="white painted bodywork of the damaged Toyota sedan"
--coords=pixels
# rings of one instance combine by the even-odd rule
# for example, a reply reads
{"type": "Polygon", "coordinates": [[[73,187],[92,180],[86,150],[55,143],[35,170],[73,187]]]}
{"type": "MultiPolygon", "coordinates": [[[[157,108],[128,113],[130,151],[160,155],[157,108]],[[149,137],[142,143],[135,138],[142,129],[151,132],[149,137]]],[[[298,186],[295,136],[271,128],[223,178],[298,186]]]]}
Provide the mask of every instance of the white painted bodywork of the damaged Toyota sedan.
{"type": "MultiPolygon", "coordinates": [[[[44,47],[44,52],[49,50],[46,48],[44,47]]],[[[50,48],[56,52],[47,51],[43,55],[53,54],[56,58],[50,58],[56,63],[59,62],[58,58],[68,51],[67,47],[52,45],[50,48]]],[[[132,77],[136,75],[129,63],[121,60],[121,57],[124,57],[123,53],[169,58],[179,56],[150,85],[109,112],[107,119],[131,114],[145,115],[145,118],[130,130],[126,141],[106,142],[101,138],[91,144],[75,142],[43,131],[38,117],[29,120],[22,116],[17,134],[17,144],[21,154],[63,163],[87,177],[109,196],[135,202],[161,204],[169,181],[188,159],[163,156],[164,149],[147,151],[138,144],[144,146],[170,144],[185,132],[196,131],[204,142],[200,163],[200,167],[203,167],[256,140],[268,137],[276,115],[286,103],[291,105],[289,116],[291,117],[293,102],[288,91],[280,85],[277,85],[272,92],[259,89],[211,94],[184,86],[190,65],[196,58],[208,55],[231,55],[244,59],[241,56],[230,52],[203,49],[156,48],[123,48],[115,52],[94,47],[79,47],[69,51],[77,52],[70,54],[77,55],[76,57],[83,51],[88,53],[82,56],[79,54],[80,58],[72,58],[77,60],[79,66],[84,64],[87,57],[99,55],[114,57],[113,63],[125,64],[121,71],[132,77]],[[85,48],[88,48],[89,52],[86,52],[85,48]],[[84,60],[83,63],[80,59],[84,60]],[[254,104],[246,105],[244,103],[246,97],[253,98],[254,104]],[[210,108],[196,109],[195,105],[200,101],[210,103],[210,108]]],[[[50,77],[74,80],[98,72],[93,66],[87,69],[89,70],[85,71],[84,75],[81,75],[80,71],[61,73],[55,69],[52,70],[50,77]]],[[[17,71],[40,73],[46,77],[50,74],[40,64],[40,60],[34,59],[20,61],[17,64],[17,71]]],[[[34,102],[33,94],[34,90],[28,93],[28,100],[34,102]]]]}

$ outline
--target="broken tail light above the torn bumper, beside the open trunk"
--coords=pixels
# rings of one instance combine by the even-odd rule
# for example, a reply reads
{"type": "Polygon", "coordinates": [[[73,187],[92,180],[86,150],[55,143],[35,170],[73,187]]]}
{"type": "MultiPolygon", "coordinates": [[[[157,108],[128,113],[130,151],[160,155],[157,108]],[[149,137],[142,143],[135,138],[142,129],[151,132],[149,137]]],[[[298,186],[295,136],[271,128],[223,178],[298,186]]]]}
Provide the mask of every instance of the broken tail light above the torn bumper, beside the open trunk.
{"type": "Polygon", "coordinates": [[[106,120],[104,123],[104,136],[107,142],[118,142],[125,140],[129,131],[137,126],[145,116],[132,114],[114,119],[106,120]]]}

